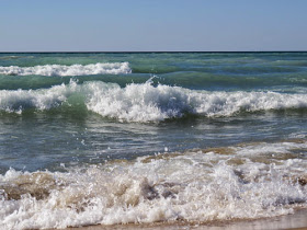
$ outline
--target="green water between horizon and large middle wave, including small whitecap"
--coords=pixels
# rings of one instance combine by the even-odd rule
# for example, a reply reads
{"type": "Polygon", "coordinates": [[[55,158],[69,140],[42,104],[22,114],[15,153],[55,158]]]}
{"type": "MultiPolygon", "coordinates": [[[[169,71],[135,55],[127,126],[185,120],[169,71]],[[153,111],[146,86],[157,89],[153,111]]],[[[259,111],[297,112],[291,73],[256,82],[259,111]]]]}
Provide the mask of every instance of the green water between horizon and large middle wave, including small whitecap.
{"type": "Polygon", "coordinates": [[[197,90],[306,87],[306,53],[280,54],[1,54],[0,89],[39,89],[71,78],[125,87],[145,83],[197,90]]]}

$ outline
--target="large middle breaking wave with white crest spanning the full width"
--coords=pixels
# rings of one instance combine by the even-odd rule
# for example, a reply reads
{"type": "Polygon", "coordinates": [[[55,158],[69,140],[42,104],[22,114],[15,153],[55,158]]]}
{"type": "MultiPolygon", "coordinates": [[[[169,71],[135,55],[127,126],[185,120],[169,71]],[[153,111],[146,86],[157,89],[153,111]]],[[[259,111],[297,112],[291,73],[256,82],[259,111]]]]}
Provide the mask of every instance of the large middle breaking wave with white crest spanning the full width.
{"type": "MultiPolygon", "coordinates": [[[[0,111],[49,110],[69,103],[75,94],[84,106],[120,122],[161,122],[185,115],[232,116],[240,112],[307,108],[307,94],[276,92],[193,91],[150,82],[128,84],[86,82],[41,90],[0,91],[0,111]]],[[[76,97],[76,96],[75,96],[76,97]]],[[[73,106],[73,104],[71,105],[73,106]]]]}

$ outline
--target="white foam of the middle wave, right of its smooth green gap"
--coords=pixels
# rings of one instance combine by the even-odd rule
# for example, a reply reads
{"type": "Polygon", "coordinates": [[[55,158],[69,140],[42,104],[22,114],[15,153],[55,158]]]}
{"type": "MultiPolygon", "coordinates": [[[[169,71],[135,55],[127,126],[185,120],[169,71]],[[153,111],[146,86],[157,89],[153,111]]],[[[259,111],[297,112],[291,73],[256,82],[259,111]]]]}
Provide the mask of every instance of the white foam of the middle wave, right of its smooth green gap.
{"type": "Polygon", "coordinates": [[[231,116],[241,111],[255,112],[307,107],[307,94],[275,92],[209,92],[150,82],[126,88],[89,83],[93,94],[89,110],[102,116],[127,122],[159,122],[185,114],[202,116],[231,116]]]}

